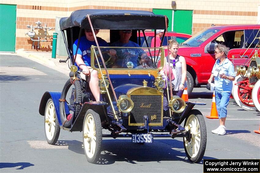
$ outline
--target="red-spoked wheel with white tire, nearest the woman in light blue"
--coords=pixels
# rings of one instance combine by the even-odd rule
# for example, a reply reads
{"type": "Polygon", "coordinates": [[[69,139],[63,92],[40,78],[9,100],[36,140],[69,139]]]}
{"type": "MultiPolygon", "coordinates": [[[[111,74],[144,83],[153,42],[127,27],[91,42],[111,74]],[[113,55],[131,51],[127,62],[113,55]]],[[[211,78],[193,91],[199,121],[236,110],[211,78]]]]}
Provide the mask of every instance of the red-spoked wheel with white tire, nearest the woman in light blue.
{"type": "Polygon", "coordinates": [[[252,84],[249,84],[248,78],[236,77],[232,94],[236,103],[244,110],[256,110],[252,100],[252,89],[252,84]]]}

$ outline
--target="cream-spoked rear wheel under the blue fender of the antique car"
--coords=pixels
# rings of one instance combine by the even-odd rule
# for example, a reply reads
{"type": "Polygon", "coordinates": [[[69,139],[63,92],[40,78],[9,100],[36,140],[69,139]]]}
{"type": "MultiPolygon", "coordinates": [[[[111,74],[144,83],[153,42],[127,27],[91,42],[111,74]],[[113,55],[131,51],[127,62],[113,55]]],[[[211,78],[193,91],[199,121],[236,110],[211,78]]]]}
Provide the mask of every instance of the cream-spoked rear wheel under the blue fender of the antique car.
{"type": "Polygon", "coordinates": [[[56,144],[60,135],[60,129],[54,103],[50,98],[46,103],[44,113],[44,132],[48,144],[56,144]]]}

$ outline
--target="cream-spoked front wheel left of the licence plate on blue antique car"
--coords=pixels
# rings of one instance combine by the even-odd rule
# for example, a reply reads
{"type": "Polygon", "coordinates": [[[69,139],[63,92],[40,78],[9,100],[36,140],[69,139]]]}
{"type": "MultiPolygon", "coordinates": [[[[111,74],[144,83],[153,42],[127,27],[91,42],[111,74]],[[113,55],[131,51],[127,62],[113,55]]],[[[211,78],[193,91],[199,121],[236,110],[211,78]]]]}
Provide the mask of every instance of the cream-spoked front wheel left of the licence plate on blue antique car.
{"type": "Polygon", "coordinates": [[[101,153],[101,149],[102,149],[102,127],[101,127],[101,121],[100,121],[99,114],[96,113],[92,109],[87,110],[84,121],[83,121],[83,146],[84,146],[85,156],[87,157],[87,161],[90,163],[96,163],[100,157],[100,153],[101,153]],[[94,120],[94,122],[93,122],[93,120],[94,120]],[[92,132],[91,132],[91,127],[89,126],[89,125],[91,125],[91,122],[93,122],[95,125],[95,128],[93,128],[92,132]],[[88,131],[87,131],[87,129],[88,129],[88,131]],[[95,133],[93,133],[94,131],[95,131],[95,133]],[[92,135],[92,133],[96,134],[95,138],[94,138],[94,135],[92,135]],[[89,140],[91,140],[91,141],[89,141],[89,140]],[[92,143],[92,140],[93,140],[93,143],[92,143]],[[95,144],[94,144],[94,142],[95,142],[95,144]],[[91,147],[94,147],[94,148],[91,148],[91,147]],[[93,151],[94,149],[95,149],[95,151],[91,152],[91,150],[93,151]]]}

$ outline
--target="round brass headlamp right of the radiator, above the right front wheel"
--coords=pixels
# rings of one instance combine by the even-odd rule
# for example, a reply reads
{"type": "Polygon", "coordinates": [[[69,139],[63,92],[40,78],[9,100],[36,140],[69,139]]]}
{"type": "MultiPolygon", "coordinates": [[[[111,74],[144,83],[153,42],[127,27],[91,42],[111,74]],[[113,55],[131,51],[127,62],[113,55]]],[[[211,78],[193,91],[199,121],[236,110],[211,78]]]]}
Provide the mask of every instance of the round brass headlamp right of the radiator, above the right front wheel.
{"type": "Polygon", "coordinates": [[[173,96],[169,101],[169,107],[175,113],[181,113],[186,108],[186,103],[184,99],[180,98],[179,96],[173,96]]]}

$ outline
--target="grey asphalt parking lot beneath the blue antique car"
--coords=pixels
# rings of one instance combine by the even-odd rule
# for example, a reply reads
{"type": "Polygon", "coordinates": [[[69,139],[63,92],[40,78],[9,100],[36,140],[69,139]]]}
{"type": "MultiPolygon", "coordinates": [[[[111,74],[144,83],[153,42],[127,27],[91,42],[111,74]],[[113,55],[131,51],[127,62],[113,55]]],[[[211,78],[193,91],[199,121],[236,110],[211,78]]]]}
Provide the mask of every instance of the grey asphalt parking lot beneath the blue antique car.
{"type": "MultiPolygon", "coordinates": [[[[66,58],[66,57],[65,57],[66,58]]],[[[0,53],[0,172],[203,172],[203,164],[186,157],[181,138],[156,138],[137,145],[131,139],[103,138],[101,159],[90,164],[84,155],[81,132],[61,129],[58,144],[48,145],[39,103],[44,92],[61,92],[69,79],[68,63],[51,53],[0,53]],[[22,56],[22,57],[21,57],[22,56]]],[[[204,117],[210,115],[213,93],[194,88],[189,101],[204,117]]],[[[230,102],[227,134],[212,134],[217,119],[205,117],[207,146],[203,159],[259,159],[260,114],[230,102]]],[[[183,124],[182,124],[183,125],[183,124]]],[[[107,130],[103,134],[109,134],[107,130]]]]}

